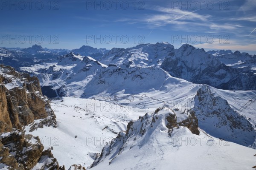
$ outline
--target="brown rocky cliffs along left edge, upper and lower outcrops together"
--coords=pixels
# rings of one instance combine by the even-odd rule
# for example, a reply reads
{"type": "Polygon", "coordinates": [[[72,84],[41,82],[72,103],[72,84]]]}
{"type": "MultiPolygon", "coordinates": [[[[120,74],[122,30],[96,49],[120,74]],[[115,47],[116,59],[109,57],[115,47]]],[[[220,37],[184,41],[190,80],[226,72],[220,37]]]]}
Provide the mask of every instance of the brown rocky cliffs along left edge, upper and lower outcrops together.
{"type": "Polygon", "coordinates": [[[64,170],[38,137],[25,135],[45,126],[57,127],[39,80],[0,65],[0,168],[8,170],[64,170]],[[36,121],[35,121],[36,120],[36,121]]]}

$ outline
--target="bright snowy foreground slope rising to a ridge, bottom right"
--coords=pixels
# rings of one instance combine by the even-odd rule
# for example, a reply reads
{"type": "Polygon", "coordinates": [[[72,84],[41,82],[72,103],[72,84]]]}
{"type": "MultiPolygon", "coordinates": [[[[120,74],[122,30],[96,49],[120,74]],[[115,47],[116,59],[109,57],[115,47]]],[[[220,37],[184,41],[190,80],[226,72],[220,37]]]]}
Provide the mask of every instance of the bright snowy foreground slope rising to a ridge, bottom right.
{"type": "Polygon", "coordinates": [[[187,127],[174,127],[170,134],[164,108],[130,122],[126,132],[106,145],[92,170],[192,169],[250,170],[255,150],[225,142],[200,131],[192,134],[187,127]],[[143,133],[145,129],[145,133],[143,133]]]}

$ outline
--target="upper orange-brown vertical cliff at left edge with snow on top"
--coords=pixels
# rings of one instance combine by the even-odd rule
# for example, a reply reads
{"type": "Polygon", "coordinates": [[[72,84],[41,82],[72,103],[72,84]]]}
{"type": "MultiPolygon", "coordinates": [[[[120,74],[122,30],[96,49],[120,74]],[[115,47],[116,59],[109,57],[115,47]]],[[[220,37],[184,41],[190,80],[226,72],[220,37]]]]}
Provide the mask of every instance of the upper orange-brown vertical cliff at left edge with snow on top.
{"type": "Polygon", "coordinates": [[[0,132],[21,129],[36,119],[31,130],[43,125],[57,127],[48,99],[42,95],[39,80],[0,65],[0,132]]]}

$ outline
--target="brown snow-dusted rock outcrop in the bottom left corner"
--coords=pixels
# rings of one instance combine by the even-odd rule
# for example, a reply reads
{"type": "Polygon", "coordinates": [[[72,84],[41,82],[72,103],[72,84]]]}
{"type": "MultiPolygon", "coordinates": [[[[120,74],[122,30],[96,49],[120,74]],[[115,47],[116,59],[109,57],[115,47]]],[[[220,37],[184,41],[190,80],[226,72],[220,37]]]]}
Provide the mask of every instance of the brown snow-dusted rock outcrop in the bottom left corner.
{"type": "Polygon", "coordinates": [[[0,136],[0,163],[9,170],[64,170],[59,167],[51,150],[44,150],[38,137],[22,131],[3,133],[0,136]]]}

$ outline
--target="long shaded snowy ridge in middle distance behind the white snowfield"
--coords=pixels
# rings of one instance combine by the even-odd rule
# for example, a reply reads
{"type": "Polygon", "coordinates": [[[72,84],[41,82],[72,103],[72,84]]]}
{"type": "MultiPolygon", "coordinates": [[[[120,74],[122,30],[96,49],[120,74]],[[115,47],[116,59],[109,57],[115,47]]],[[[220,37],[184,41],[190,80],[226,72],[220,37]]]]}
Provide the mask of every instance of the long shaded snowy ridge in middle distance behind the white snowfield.
{"type": "Polygon", "coordinates": [[[39,67],[36,71],[34,68],[23,67],[20,70],[37,75],[41,79],[41,86],[50,86],[59,96],[87,98],[121,91],[125,94],[138,94],[161,91],[166,88],[164,84],[177,81],[161,68],[120,68],[113,64],[107,66],[91,57],[73,53],[60,57],[59,62],[52,63],[49,68],[39,67]]]}

